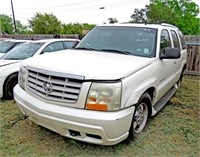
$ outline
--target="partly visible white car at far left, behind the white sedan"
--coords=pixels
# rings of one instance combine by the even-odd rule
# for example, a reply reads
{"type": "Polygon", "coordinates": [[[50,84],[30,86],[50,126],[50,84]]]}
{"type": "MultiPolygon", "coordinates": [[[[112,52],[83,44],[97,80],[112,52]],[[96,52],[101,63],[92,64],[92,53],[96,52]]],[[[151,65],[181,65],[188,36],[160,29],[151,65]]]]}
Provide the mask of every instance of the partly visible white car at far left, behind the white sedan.
{"type": "Polygon", "coordinates": [[[3,39],[2,41],[0,41],[0,58],[2,58],[2,56],[5,55],[12,48],[28,41],[29,40],[3,39]]]}

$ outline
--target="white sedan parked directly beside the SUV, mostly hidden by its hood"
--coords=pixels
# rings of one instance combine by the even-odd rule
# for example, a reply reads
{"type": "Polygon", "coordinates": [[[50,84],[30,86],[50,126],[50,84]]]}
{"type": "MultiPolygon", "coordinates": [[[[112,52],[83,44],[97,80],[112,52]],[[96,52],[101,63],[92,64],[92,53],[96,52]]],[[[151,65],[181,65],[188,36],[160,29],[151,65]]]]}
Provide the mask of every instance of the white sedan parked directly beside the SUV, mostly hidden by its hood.
{"type": "Polygon", "coordinates": [[[0,98],[13,98],[20,62],[32,56],[73,48],[78,39],[45,39],[24,43],[10,50],[0,59],[0,98]]]}

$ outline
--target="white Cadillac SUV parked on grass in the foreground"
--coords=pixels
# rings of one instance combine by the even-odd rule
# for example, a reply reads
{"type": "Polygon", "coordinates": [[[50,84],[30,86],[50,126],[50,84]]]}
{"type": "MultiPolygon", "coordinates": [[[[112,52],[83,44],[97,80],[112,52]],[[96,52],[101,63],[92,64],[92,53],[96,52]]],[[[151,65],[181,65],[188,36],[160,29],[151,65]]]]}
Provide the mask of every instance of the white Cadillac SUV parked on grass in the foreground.
{"type": "Polygon", "coordinates": [[[186,57],[175,26],[100,25],[74,50],[22,62],[14,97],[38,125],[114,145],[137,137],[174,95],[186,57]]]}

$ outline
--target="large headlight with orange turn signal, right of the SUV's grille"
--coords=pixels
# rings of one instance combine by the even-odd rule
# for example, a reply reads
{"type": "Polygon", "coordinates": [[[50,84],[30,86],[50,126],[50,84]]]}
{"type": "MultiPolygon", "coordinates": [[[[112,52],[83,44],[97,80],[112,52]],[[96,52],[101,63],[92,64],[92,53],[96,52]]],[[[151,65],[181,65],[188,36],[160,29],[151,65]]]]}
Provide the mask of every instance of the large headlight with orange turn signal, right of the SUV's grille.
{"type": "Polygon", "coordinates": [[[100,111],[114,111],[120,109],[121,82],[92,83],[86,109],[100,111]]]}

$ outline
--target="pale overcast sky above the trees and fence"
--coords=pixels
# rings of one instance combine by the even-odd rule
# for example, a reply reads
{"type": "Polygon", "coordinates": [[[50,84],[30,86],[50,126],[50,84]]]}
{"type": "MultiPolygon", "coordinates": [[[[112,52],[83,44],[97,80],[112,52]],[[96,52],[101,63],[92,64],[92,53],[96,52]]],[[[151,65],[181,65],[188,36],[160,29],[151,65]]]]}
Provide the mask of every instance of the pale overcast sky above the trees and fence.
{"type": "MultiPolygon", "coordinates": [[[[193,0],[200,6],[200,0],[193,0]]],[[[144,8],[150,0],[12,0],[15,20],[27,25],[39,13],[52,13],[62,23],[107,23],[108,18],[128,22],[135,8],[144,8]],[[103,9],[102,9],[103,8],[103,9]]],[[[11,0],[0,0],[0,14],[12,18],[11,0]]]]}

